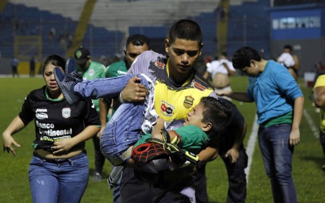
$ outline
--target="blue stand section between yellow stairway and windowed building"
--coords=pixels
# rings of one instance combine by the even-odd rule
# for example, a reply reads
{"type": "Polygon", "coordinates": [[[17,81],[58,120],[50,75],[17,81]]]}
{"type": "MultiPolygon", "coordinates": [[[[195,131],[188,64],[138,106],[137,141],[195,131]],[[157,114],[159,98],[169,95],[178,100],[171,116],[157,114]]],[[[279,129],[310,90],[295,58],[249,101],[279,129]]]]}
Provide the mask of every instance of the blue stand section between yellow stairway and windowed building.
{"type": "Polygon", "coordinates": [[[264,57],[270,57],[269,0],[244,2],[230,6],[228,17],[227,52],[229,56],[242,46],[264,50],[264,57]]]}

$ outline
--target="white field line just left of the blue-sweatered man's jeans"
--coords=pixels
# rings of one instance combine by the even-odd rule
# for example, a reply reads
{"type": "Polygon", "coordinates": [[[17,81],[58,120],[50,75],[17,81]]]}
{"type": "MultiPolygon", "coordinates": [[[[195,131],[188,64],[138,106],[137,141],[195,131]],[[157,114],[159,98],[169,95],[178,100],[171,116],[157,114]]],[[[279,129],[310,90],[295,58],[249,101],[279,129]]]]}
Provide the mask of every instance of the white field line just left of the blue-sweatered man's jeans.
{"type": "Polygon", "coordinates": [[[246,153],[248,156],[248,164],[245,169],[247,184],[248,184],[249,171],[251,170],[252,161],[253,161],[253,154],[254,154],[255,142],[256,142],[256,138],[257,138],[258,127],[259,127],[259,125],[257,124],[257,115],[255,115],[255,119],[254,119],[253,127],[252,127],[252,133],[249,136],[249,140],[248,140],[247,147],[246,147],[246,153]]]}

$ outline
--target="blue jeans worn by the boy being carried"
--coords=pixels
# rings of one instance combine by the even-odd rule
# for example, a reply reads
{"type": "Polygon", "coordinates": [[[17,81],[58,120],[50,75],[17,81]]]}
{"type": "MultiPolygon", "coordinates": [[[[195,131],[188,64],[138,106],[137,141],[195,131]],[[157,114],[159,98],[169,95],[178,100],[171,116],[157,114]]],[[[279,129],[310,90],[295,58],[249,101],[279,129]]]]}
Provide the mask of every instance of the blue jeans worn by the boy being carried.
{"type": "MultiPolygon", "coordinates": [[[[123,75],[116,78],[98,78],[84,80],[76,84],[75,93],[83,98],[105,98],[120,95],[127,82],[134,74],[123,75]]],[[[140,74],[141,84],[149,88],[147,80],[140,74]]],[[[100,149],[102,154],[114,165],[122,164],[126,158],[122,156],[130,146],[134,145],[141,137],[141,119],[145,109],[144,102],[124,102],[115,111],[107,123],[100,137],[100,149]]]]}

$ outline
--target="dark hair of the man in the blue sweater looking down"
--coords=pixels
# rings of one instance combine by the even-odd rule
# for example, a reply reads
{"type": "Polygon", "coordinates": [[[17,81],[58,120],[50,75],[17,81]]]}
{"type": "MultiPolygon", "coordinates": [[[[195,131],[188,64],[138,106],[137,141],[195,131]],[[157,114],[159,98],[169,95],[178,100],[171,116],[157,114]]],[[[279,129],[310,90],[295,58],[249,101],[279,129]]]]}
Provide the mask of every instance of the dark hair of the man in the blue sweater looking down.
{"type": "Polygon", "coordinates": [[[232,57],[232,65],[235,69],[243,69],[245,67],[251,66],[251,60],[261,61],[261,56],[252,47],[244,46],[237,51],[235,51],[232,57]]]}

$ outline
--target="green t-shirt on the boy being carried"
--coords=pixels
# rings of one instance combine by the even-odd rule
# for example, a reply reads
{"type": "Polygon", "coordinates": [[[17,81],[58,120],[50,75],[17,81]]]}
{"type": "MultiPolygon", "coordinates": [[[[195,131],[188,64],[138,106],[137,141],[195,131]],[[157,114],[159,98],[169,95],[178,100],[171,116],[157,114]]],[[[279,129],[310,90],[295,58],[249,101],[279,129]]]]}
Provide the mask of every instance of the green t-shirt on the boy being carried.
{"type": "MultiPolygon", "coordinates": [[[[201,128],[195,125],[186,125],[173,130],[180,137],[178,146],[186,151],[198,154],[201,148],[205,146],[211,138],[201,128]]],[[[145,143],[145,140],[151,138],[151,134],[145,134],[140,137],[134,147],[145,143]]]]}

